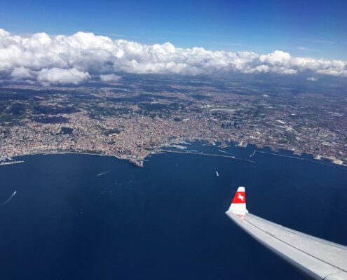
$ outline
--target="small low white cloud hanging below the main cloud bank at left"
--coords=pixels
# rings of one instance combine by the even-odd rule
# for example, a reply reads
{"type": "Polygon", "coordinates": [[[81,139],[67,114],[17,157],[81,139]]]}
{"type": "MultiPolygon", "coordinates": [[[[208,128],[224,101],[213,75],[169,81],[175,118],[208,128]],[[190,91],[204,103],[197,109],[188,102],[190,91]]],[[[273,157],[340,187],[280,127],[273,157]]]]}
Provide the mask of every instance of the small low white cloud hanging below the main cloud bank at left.
{"type": "Polygon", "coordinates": [[[37,75],[37,80],[43,85],[51,84],[74,84],[88,80],[90,78],[87,72],[79,71],[76,68],[61,69],[61,68],[50,68],[42,69],[37,75]]]}

